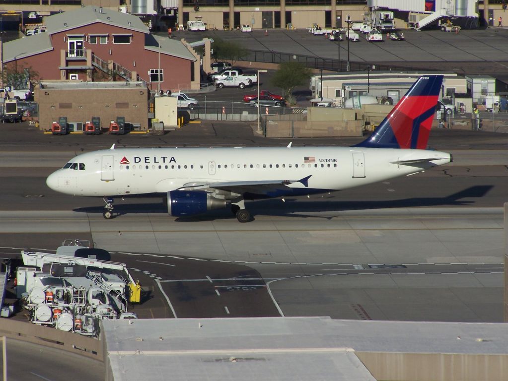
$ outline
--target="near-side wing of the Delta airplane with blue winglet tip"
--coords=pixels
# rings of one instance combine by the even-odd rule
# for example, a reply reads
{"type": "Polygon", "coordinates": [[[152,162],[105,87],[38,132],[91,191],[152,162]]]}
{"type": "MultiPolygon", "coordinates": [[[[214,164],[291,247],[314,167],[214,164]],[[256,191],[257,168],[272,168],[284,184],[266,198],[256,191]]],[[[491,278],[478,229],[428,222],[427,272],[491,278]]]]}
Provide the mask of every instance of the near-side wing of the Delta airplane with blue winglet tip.
{"type": "MultiPolygon", "coordinates": [[[[280,189],[287,189],[288,186],[293,183],[301,183],[305,187],[308,187],[309,178],[310,176],[300,180],[226,181],[203,184],[200,188],[213,188],[237,194],[250,193],[267,195],[280,189]]],[[[182,188],[188,189],[188,187],[185,186],[182,188]]]]}

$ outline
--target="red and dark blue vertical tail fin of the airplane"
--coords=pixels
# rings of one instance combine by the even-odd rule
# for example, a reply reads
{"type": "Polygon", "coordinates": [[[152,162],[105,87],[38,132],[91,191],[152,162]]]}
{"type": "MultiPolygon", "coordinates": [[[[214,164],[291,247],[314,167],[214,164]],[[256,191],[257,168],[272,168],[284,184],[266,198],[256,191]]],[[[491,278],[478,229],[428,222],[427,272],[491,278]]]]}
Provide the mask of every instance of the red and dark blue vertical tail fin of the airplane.
{"type": "Polygon", "coordinates": [[[420,77],[390,114],[356,147],[426,149],[443,76],[420,77]]]}

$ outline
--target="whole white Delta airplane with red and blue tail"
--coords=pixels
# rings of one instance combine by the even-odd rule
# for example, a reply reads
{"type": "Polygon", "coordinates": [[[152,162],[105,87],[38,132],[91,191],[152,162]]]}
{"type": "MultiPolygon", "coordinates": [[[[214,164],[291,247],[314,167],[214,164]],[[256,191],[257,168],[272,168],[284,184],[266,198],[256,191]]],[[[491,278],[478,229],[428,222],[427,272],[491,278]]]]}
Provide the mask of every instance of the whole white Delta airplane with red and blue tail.
{"type": "Polygon", "coordinates": [[[80,154],[46,180],[54,191],[113,198],[164,196],[174,217],[230,207],[252,220],[245,200],[327,193],[452,161],[427,142],[443,76],[420,77],[373,133],[352,147],[115,148],[80,154]]]}

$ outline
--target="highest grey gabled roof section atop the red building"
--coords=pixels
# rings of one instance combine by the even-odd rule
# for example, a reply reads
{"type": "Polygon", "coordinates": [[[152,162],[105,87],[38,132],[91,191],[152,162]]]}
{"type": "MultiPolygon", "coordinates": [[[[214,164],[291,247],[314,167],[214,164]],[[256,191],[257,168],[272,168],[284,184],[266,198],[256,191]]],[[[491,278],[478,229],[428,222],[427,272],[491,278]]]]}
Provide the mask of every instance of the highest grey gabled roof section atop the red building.
{"type": "Polygon", "coordinates": [[[98,6],[77,8],[72,11],[57,13],[44,18],[48,33],[57,33],[80,26],[102,22],[107,25],[119,26],[142,33],[149,33],[148,28],[138,16],[129,13],[112,11],[98,6]],[[102,9],[102,12],[101,12],[102,9]]]}

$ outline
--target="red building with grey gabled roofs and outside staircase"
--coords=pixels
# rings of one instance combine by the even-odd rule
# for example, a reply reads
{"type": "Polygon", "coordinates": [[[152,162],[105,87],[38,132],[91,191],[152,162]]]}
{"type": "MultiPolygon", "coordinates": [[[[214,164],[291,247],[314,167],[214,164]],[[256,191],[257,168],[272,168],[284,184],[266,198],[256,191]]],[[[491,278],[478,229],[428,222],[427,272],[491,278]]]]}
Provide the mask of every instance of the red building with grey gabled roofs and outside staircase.
{"type": "Polygon", "coordinates": [[[153,36],[139,17],[97,6],[45,18],[46,33],[2,46],[3,64],[39,80],[141,81],[149,89],[199,88],[199,56],[185,41],[153,36]]]}

